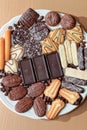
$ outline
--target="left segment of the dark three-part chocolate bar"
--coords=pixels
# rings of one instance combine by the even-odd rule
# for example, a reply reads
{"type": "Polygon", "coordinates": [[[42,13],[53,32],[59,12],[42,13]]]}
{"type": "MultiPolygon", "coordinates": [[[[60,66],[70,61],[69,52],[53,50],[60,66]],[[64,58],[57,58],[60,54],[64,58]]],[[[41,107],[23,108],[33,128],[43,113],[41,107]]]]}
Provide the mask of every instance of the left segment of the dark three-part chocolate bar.
{"type": "Polygon", "coordinates": [[[32,61],[30,59],[24,59],[20,61],[20,68],[25,85],[36,82],[32,61]]]}

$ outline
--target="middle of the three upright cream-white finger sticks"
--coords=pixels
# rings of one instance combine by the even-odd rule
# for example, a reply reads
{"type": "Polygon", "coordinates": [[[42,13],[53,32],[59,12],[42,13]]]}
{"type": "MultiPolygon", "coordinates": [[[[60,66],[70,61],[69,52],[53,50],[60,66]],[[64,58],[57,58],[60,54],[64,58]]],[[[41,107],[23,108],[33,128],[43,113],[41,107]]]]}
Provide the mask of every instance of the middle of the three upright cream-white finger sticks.
{"type": "Polygon", "coordinates": [[[66,57],[67,57],[67,62],[68,64],[72,64],[72,52],[71,52],[71,43],[69,40],[65,40],[64,41],[64,47],[65,47],[65,51],[66,51],[66,57]]]}

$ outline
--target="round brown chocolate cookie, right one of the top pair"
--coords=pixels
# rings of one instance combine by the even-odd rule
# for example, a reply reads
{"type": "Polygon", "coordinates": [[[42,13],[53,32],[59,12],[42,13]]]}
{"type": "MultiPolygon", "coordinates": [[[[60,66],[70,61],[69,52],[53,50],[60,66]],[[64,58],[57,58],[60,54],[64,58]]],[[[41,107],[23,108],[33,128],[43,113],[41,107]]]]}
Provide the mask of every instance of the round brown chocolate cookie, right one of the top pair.
{"type": "Polygon", "coordinates": [[[62,17],[60,24],[64,29],[69,29],[70,30],[70,29],[75,27],[76,20],[72,15],[65,14],[62,17]]]}

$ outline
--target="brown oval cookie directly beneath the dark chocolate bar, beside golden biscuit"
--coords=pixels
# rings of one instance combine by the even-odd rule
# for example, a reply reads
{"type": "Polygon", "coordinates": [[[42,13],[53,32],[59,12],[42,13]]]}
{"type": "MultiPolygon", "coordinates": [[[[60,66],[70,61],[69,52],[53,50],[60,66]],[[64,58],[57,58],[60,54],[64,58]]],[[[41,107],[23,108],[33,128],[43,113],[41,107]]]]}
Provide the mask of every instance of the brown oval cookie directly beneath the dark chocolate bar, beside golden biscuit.
{"type": "Polygon", "coordinates": [[[32,84],[29,88],[28,88],[28,95],[29,97],[37,97],[40,96],[45,90],[45,85],[44,83],[38,82],[35,84],[32,84]]]}

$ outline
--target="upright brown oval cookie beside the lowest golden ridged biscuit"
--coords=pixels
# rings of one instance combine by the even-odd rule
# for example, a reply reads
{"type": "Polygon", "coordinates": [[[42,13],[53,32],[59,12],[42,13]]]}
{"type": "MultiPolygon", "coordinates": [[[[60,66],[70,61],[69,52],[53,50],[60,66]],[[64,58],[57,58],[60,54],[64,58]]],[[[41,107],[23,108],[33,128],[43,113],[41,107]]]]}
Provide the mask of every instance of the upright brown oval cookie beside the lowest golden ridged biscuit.
{"type": "Polygon", "coordinates": [[[33,107],[37,116],[42,117],[46,114],[46,104],[45,104],[45,101],[41,97],[37,97],[34,100],[33,107]]]}

